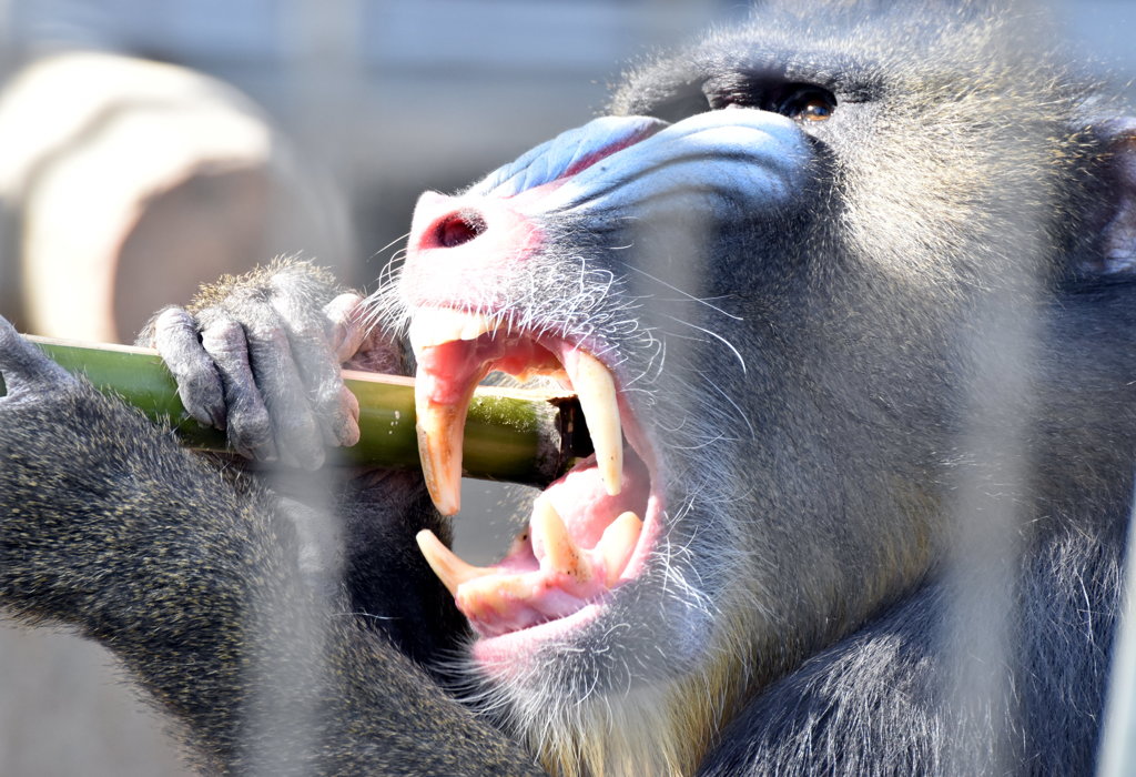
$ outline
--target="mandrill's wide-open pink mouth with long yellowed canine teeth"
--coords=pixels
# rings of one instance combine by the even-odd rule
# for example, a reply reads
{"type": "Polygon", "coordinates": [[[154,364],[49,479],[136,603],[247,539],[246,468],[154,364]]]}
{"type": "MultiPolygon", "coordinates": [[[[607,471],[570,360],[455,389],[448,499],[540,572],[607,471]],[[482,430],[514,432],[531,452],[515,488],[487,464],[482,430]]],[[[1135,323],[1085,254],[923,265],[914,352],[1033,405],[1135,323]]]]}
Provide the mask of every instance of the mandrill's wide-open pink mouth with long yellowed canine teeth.
{"type": "Polygon", "coordinates": [[[474,389],[491,371],[520,381],[551,376],[579,398],[595,453],[537,496],[528,527],[501,561],[474,567],[431,532],[423,554],[482,637],[560,621],[601,604],[633,579],[658,532],[653,461],[611,370],[562,337],[499,328],[452,309],[415,314],[410,342],[418,445],[431,496],[443,515],[460,507],[461,442],[474,389]]]}

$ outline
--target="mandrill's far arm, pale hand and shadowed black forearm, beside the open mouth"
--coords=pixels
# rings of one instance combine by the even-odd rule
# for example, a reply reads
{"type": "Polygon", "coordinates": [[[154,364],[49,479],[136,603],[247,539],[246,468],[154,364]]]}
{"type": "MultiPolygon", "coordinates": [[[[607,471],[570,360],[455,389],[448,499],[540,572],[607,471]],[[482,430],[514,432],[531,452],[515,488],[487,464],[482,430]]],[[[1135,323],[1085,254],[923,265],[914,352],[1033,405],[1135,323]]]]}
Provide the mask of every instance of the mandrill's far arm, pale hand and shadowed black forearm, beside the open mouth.
{"type": "Polygon", "coordinates": [[[400,345],[360,318],[361,301],[319,267],[276,260],[204,286],[186,308],[160,311],[141,340],[158,348],[199,423],[224,429],[244,456],[283,465],[258,468],[256,479],[286,496],[306,534],[306,574],[314,560],[326,562],[314,559],[326,552],[309,552],[319,535],[341,529],[342,558],[317,576],[329,571],[329,579],[346,586],[350,610],[366,613],[368,627],[433,663],[441,651],[457,648],[465,619],[414,540],[423,528],[443,540],[450,535],[420,474],[319,469],[326,445],[358,437],[358,403],[344,389],[341,365],[407,371],[400,345]],[[341,526],[327,515],[333,508],[341,526]]]}

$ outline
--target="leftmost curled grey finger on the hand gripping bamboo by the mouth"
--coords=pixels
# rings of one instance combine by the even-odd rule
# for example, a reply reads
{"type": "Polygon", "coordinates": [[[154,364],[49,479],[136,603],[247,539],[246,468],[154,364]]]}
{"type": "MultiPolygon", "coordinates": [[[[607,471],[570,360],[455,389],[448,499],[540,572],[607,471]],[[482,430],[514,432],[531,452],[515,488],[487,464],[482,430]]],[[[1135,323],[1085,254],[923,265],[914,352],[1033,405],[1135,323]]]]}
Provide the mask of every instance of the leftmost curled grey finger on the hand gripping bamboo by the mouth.
{"type": "Polygon", "coordinates": [[[189,413],[206,426],[224,429],[225,389],[198,337],[197,319],[184,308],[167,308],[154,318],[153,341],[189,413]]]}

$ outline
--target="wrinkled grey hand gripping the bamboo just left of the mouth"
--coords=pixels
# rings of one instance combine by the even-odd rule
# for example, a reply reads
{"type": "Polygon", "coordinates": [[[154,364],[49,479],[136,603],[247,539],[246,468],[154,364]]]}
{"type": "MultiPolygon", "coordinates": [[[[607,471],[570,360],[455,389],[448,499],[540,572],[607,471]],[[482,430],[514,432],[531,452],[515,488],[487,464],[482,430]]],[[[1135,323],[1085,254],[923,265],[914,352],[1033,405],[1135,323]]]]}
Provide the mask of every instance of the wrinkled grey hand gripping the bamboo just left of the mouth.
{"type": "Polygon", "coordinates": [[[362,298],[302,261],[274,262],[159,311],[141,337],[156,346],[200,423],[240,453],[317,469],[325,446],[359,440],[359,406],[341,365],[401,370],[401,349],[373,333],[362,298]]]}

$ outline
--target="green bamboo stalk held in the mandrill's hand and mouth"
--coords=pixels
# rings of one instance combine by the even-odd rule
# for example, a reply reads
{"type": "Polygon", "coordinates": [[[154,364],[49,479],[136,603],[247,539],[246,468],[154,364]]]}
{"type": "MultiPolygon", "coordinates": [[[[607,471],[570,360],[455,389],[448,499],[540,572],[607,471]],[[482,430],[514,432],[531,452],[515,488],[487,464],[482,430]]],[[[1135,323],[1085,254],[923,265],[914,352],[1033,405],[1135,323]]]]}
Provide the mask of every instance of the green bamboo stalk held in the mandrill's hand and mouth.
{"type": "MultiPolygon", "coordinates": [[[[177,396],[157,351],[30,336],[55,361],[83,373],[99,391],[119,396],[159,423],[169,423],[192,448],[228,450],[225,435],[198,424],[177,396]]],[[[343,371],[359,400],[359,443],[333,457],[349,466],[417,468],[414,381],[343,371]]],[[[583,413],[574,396],[483,386],[469,406],[465,474],[490,481],[546,485],[575,457],[588,452],[583,413]]]]}

